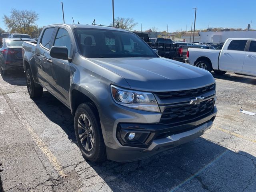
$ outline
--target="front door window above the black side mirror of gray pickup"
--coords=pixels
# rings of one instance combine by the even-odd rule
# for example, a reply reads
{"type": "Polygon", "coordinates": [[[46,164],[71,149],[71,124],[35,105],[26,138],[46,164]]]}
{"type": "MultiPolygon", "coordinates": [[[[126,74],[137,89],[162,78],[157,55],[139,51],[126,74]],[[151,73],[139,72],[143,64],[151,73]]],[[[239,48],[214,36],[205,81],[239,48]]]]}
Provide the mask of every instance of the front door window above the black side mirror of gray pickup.
{"type": "Polygon", "coordinates": [[[66,46],[68,48],[68,56],[70,56],[71,52],[71,39],[68,34],[68,31],[63,28],[59,28],[57,35],[54,40],[55,46],[66,46]]]}

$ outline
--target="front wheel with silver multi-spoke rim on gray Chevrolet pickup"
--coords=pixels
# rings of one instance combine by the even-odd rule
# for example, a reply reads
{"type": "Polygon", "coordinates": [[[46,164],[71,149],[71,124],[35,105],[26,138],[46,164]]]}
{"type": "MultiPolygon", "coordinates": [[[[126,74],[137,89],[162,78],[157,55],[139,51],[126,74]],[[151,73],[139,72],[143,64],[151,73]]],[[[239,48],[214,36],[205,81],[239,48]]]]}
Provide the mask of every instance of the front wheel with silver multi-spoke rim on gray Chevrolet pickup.
{"type": "Polygon", "coordinates": [[[91,162],[104,162],[106,160],[106,146],[102,136],[100,120],[91,103],[86,102],[78,106],[74,128],[76,140],[83,157],[91,162]]]}

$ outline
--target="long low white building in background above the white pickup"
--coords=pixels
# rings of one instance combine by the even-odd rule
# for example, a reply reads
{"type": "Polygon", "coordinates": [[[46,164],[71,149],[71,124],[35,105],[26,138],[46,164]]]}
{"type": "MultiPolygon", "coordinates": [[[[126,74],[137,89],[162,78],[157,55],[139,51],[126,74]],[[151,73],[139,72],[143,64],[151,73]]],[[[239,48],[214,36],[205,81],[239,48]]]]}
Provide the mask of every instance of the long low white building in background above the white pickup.
{"type": "MultiPolygon", "coordinates": [[[[186,42],[190,42],[190,32],[183,36],[186,42]]],[[[194,42],[213,42],[219,44],[225,42],[228,38],[256,38],[256,31],[216,31],[216,32],[196,32],[194,42]]],[[[193,32],[191,42],[193,40],[193,32]]]]}

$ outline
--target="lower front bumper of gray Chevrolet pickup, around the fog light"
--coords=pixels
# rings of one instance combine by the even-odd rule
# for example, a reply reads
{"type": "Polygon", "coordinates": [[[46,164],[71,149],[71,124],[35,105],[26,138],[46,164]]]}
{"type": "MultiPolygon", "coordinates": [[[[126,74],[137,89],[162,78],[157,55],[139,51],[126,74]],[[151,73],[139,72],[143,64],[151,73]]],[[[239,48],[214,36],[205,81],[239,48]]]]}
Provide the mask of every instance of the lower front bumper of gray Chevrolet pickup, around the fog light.
{"type": "MultiPolygon", "coordinates": [[[[106,152],[109,160],[117,162],[132,162],[148,158],[154,154],[184,144],[201,136],[206,130],[211,128],[216,117],[217,108],[214,107],[212,112],[207,116],[174,127],[168,127],[160,124],[137,124],[137,123],[120,123],[121,129],[138,132],[150,132],[147,146],[122,146],[112,148],[106,145],[106,152]],[[151,138],[150,138],[151,137],[151,138]]],[[[120,144],[120,143],[119,143],[120,144]]]]}

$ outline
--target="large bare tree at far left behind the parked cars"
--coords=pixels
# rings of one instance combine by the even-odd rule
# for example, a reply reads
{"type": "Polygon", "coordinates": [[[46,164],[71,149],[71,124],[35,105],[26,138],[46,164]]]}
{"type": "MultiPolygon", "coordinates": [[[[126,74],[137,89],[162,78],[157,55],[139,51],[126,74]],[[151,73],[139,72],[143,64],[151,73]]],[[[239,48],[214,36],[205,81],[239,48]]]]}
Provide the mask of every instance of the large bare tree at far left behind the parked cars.
{"type": "Polygon", "coordinates": [[[4,15],[4,24],[11,32],[31,33],[31,26],[38,20],[38,14],[29,10],[16,10],[12,8],[11,15],[4,15]]]}

